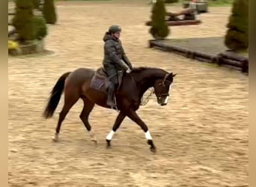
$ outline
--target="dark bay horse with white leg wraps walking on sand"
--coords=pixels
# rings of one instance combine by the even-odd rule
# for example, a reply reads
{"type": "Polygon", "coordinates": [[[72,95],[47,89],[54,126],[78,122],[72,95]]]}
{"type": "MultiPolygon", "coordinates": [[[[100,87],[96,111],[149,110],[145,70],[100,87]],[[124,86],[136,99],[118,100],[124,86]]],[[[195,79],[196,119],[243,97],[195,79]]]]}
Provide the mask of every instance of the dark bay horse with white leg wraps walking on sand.
{"type": "MultiPolygon", "coordinates": [[[[100,70],[100,68],[98,70],[100,70]]],[[[61,94],[64,91],[64,106],[58,117],[58,124],[53,138],[54,141],[58,141],[61,123],[68,111],[70,111],[70,108],[81,98],[84,102],[84,108],[80,114],[80,119],[90,133],[91,140],[97,142],[91,125],[88,122],[88,116],[95,104],[103,108],[110,107],[106,105],[106,92],[91,87],[91,82],[96,72],[97,71],[88,68],[79,68],[73,72],[64,73],[52,88],[51,96],[43,112],[45,118],[52,117],[61,98],[61,94]]],[[[112,126],[112,131],[106,136],[107,147],[110,147],[112,136],[117,131],[124,118],[129,117],[143,129],[147,138],[147,144],[150,145],[150,150],[152,152],[156,151],[147,125],[138,117],[135,111],[138,110],[141,104],[141,97],[148,88],[154,88],[154,93],[159,105],[166,105],[175,75],[176,74],[168,73],[159,68],[150,67],[138,67],[134,68],[131,73],[124,73],[121,79],[121,85],[115,97],[119,114],[112,126]]]]}

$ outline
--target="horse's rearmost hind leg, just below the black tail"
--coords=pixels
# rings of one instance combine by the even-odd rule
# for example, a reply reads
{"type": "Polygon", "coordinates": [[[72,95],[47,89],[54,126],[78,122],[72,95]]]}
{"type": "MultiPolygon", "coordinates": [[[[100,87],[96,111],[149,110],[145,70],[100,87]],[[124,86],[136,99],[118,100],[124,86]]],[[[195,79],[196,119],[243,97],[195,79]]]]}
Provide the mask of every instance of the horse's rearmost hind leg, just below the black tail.
{"type": "Polygon", "coordinates": [[[52,138],[53,141],[58,141],[58,134],[60,133],[60,130],[61,130],[61,123],[65,119],[67,113],[70,111],[70,108],[72,108],[72,106],[79,99],[79,95],[74,92],[75,91],[72,90],[72,91],[69,91],[68,93],[65,93],[64,106],[63,106],[61,113],[59,114],[59,117],[58,117],[58,124],[55,129],[55,135],[52,138]]]}

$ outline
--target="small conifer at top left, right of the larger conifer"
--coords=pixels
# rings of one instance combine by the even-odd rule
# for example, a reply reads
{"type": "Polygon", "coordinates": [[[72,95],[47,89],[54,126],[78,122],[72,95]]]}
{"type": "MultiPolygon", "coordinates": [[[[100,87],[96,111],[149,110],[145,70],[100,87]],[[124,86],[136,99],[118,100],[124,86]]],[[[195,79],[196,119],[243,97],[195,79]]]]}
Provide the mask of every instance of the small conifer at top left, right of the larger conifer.
{"type": "Polygon", "coordinates": [[[43,17],[46,19],[46,23],[55,24],[57,22],[54,0],[44,0],[43,17]]]}

